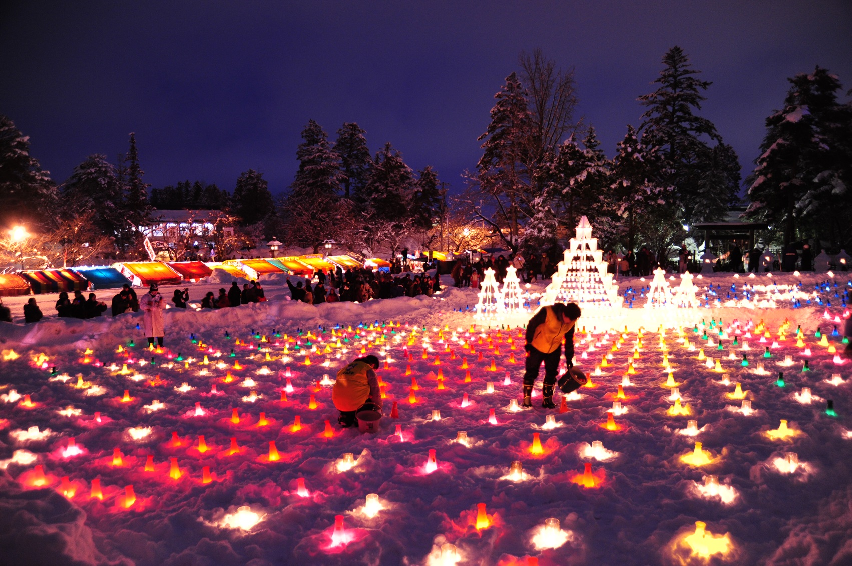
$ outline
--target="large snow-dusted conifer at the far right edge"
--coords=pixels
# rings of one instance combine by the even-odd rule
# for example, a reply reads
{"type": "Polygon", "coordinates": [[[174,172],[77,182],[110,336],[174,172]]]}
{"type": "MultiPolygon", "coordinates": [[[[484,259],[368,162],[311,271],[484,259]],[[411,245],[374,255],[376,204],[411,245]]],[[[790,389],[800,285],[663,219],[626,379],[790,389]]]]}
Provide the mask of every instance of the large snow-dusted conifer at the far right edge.
{"type": "Polygon", "coordinates": [[[838,104],[840,81],[826,69],[817,66],[788,80],[784,108],[766,119],[762,155],[746,180],[746,215],[782,225],[785,244],[800,229],[802,235],[849,242],[852,111],[838,104]]]}

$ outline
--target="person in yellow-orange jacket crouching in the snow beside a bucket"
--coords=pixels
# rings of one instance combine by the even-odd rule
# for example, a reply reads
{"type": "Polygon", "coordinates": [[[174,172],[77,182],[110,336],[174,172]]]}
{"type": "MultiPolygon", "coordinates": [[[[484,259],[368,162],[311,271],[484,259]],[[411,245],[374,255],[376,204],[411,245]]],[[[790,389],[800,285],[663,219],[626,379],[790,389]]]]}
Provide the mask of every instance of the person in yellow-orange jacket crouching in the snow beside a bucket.
{"type": "Polygon", "coordinates": [[[378,358],[359,357],[337,372],[337,381],[331,388],[331,401],[340,411],[337,423],[343,428],[358,426],[355,414],[372,405],[372,410],[382,411],[382,392],[378,386],[378,358]]]}

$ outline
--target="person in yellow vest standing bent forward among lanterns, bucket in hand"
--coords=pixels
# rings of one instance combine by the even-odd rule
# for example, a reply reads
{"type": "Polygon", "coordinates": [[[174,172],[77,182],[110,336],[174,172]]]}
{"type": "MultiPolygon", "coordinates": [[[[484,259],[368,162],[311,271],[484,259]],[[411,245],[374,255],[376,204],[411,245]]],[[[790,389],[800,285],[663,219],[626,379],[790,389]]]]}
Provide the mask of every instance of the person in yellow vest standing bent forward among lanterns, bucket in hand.
{"type": "Polygon", "coordinates": [[[527,323],[527,344],[524,346],[527,351],[527,371],[524,374],[523,386],[524,407],[533,406],[533,384],[538,377],[538,368],[544,362],[541,406],[545,409],[556,408],[553,404],[553,388],[559,371],[562,341],[565,341],[565,361],[570,370],[574,357],[574,323],[579,317],[579,306],[574,303],[556,303],[554,306],[542,307],[530,318],[527,323]]]}

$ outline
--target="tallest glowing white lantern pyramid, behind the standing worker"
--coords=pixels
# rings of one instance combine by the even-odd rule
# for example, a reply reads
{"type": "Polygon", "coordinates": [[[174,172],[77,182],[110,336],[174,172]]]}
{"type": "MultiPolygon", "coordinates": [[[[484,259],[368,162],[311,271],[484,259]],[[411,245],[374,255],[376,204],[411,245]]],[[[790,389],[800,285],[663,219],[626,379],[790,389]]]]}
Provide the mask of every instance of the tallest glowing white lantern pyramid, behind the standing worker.
{"type": "Polygon", "coordinates": [[[580,306],[620,307],[619,286],[613,275],[607,273],[603,250],[597,249],[597,238],[591,237],[591,225],[585,216],[577,225],[577,237],[571,238],[564,259],[556,266],[556,273],[541,304],[556,302],[578,303],[580,306]]]}

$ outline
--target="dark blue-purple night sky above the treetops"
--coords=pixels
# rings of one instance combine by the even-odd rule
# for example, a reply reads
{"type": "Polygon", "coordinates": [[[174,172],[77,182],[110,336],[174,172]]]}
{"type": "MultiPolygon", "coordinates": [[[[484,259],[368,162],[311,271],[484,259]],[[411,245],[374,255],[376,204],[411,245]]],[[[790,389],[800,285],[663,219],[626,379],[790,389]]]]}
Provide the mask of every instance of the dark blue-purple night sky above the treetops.
{"type": "Polygon", "coordinates": [[[702,114],[751,170],[786,77],[815,65],[852,88],[852,3],[13,2],[0,9],[0,113],[62,181],[136,133],[153,186],[233,190],[260,170],[290,185],[308,119],[344,122],[371,151],[458,190],[480,157],[493,94],[521,50],[575,67],[580,114],[609,155],[638,125],[636,97],[680,45],[713,82],[702,114]]]}

